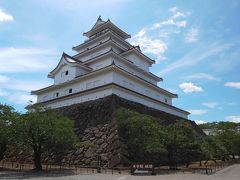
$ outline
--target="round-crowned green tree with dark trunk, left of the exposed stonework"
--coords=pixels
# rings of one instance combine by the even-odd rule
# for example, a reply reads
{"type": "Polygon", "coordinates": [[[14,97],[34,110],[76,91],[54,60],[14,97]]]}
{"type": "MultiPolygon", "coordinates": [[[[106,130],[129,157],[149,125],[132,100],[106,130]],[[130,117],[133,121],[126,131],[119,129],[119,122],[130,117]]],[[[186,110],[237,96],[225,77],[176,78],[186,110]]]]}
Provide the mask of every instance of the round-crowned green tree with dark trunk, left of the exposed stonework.
{"type": "Polygon", "coordinates": [[[61,113],[32,106],[22,116],[18,142],[33,151],[36,170],[42,170],[43,153],[59,154],[78,143],[73,121],[61,113]]]}

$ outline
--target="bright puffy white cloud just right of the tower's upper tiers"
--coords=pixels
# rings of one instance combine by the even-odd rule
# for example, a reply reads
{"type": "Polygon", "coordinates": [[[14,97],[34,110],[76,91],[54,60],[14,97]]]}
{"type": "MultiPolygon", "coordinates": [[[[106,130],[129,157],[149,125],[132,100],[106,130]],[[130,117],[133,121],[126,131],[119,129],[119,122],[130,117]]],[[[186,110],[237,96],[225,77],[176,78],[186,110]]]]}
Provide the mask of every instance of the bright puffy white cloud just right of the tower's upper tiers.
{"type": "Polygon", "coordinates": [[[131,39],[131,43],[139,45],[143,53],[157,56],[157,62],[166,59],[164,53],[168,49],[170,36],[178,34],[187,26],[188,13],[180,12],[177,7],[170,8],[169,11],[172,13],[169,18],[142,28],[131,39]]]}

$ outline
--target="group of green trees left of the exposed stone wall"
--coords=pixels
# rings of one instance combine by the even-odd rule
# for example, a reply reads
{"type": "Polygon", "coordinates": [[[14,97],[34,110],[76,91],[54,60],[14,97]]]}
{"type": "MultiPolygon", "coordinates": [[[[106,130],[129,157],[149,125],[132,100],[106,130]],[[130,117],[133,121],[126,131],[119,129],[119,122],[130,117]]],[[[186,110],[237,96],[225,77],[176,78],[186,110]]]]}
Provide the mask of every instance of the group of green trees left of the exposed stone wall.
{"type": "Polygon", "coordinates": [[[11,106],[0,104],[0,160],[6,152],[10,157],[33,152],[35,167],[41,170],[42,155],[54,153],[60,161],[66,150],[80,142],[73,121],[39,105],[29,108],[20,115],[11,106]]]}

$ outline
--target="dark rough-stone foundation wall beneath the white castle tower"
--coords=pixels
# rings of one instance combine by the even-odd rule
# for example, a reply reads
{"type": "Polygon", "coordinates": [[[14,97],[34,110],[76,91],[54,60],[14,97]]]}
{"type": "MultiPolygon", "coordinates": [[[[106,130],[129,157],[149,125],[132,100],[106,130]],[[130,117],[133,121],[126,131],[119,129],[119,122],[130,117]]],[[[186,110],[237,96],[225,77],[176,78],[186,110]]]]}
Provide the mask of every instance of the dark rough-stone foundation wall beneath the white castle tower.
{"type": "MultiPolygon", "coordinates": [[[[74,120],[76,132],[85,146],[76,151],[64,153],[64,158],[58,161],[62,165],[97,166],[98,156],[101,156],[103,167],[128,166],[128,150],[119,136],[114,112],[119,107],[131,109],[139,113],[148,114],[159,119],[159,123],[168,125],[180,117],[131,102],[116,95],[59,108],[70,119],[74,120]]],[[[189,121],[189,120],[186,120],[189,121]]],[[[189,121],[199,135],[204,133],[194,121],[189,121]]],[[[20,157],[20,156],[19,156],[20,157]]],[[[21,156],[23,157],[23,156],[21,156]]],[[[32,161],[31,156],[23,157],[25,161],[32,161]]],[[[46,155],[44,163],[55,164],[57,157],[46,155]]]]}

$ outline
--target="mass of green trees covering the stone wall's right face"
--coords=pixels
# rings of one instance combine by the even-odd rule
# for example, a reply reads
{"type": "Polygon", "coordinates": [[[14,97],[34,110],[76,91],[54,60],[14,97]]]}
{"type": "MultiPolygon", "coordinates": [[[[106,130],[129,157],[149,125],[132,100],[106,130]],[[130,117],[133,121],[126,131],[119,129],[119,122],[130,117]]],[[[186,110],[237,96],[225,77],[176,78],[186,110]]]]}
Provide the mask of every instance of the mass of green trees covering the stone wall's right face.
{"type": "MultiPolygon", "coordinates": [[[[169,163],[176,166],[200,156],[200,139],[189,123],[179,121],[163,127],[152,116],[124,108],[117,110],[116,117],[133,160],[143,161],[143,155],[154,155],[154,158],[168,155],[169,163]]],[[[161,163],[162,158],[157,163],[161,163]]]]}

